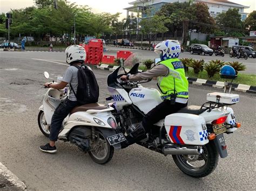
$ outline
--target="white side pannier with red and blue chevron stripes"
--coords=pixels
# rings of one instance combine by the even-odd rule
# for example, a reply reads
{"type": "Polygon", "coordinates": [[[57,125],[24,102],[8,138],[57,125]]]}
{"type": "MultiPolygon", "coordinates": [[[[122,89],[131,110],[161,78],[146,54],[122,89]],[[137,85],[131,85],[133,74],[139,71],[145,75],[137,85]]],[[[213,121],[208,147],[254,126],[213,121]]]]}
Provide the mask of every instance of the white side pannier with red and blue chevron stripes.
{"type": "Polygon", "coordinates": [[[193,114],[171,114],[165,117],[165,130],[172,143],[205,145],[209,142],[205,119],[193,114]]]}

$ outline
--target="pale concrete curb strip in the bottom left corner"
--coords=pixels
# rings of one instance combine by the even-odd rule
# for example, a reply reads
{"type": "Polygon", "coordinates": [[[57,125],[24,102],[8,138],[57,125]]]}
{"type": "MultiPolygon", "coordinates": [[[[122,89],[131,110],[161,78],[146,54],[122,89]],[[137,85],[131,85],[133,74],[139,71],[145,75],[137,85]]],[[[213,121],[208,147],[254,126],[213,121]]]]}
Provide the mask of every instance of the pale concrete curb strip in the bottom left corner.
{"type": "Polygon", "coordinates": [[[2,162],[0,162],[0,174],[3,174],[3,176],[9,181],[11,182],[13,185],[15,185],[16,187],[19,187],[23,190],[26,189],[26,185],[24,184],[24,182],[22,182],[21,180],[18,179],[18,177],[16,175],[14,175],[11,171],[9,171],[9,169],[7,169],[2,162]]]}

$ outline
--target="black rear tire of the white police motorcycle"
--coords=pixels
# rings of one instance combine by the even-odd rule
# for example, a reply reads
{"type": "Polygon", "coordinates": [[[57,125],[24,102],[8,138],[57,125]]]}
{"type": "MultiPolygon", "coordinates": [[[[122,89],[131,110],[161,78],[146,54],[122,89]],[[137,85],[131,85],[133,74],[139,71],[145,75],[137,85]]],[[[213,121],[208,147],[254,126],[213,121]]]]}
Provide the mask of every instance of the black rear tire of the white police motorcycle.
{"type": "Polygon", "coordinates": [[[199,155],[198,160],[205,160],[203,159],[203,154],[204,157],[206,157],[206,161],[202,167],[190,165],[184,158],[184,155],[172,155],[172,158],[183,173],[192,176],[193,178],[202,178],[211,174],[217,167],[219,161],[219,153],[213,142],[203,146],[203,153],[199,155]]]}

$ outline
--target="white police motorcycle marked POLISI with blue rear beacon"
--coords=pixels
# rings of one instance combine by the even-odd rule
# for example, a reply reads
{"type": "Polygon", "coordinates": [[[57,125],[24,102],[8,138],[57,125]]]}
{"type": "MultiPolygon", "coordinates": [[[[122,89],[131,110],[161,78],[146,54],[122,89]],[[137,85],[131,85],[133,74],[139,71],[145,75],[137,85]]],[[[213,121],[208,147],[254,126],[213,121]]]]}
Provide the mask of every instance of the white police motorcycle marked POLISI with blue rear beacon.
{"type": "MultiPolygon", "coordinates": [[[[162,102],[157,89],[142,86],[150,79],[139,82],[120,80],[122,75],[139,73],[138,58],[134,54],[130,57],[107,77],[111,96],[106,100],[114,101],[110,105],[115,108],[112,114],[122,132],[118,135],[120,142],[129,135],[130,129],[142,122],[147,112],[162,102]]],[[[221,76],[234,79],[235,71],[224,66],[221,76]]],[[[147,138],[137,144],[165,156],[172,155],[179,169],[194,178],[211,174],[217,167],[219,155],[227,157],[224,134],[229,135],[241,126],[235,122],[234,111],[230,107],[239,102],[239,95],[231,94],[232,86],[226,93],[227,87],[226,82],[225,93],[207,94],[207,102],[201,106],[190,105],[166,116],[154,124],[147,138]]]]}

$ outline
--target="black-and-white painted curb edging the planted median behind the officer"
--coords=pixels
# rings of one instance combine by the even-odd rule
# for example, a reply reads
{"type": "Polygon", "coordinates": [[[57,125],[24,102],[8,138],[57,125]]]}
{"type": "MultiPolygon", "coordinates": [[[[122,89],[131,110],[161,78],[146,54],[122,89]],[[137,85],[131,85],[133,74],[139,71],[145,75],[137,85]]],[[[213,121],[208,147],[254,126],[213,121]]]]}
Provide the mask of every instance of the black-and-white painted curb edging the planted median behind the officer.
{"type": "MultiPolygon", "coordinates": [[[[97,68],[113,71],[113,70],[117,69],[118,66],[106,65],[106,64],[102,63],[102,65],[97,66],[97,68]]],[[[129,72],[129,70],[130,69],[127,69],[126,72],[129,72]]],[[[139,70],[139,72],[143,72],[143,71],[139,70]]],[[[211,81],[211,80],[199,79],[199,78],[194,78],[194,77],[186,77],[186,78],[187,78],[188,83],[193,84],[193,85],[224,89],[224,82],[211,81]]],[[[256,94],[256,86],[248,86],[248,85],[244,85],[244,84],[232,83],[232,90],[256,94]]]]}

